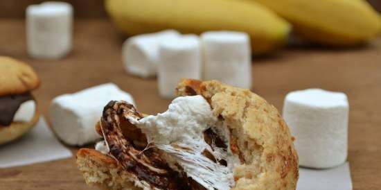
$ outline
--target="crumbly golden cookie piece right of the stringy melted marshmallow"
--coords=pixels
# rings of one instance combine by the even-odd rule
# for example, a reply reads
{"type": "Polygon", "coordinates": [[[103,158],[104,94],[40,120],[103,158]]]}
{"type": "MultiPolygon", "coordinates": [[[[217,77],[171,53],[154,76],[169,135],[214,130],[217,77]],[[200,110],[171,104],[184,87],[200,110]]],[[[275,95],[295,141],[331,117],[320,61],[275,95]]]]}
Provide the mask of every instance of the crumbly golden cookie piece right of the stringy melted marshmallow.
{"type": "Polygon", "coordinates": [[[217,80],[183,79],[179,96],[200,94],[229,126],[231,146],[244,164],[234,169],[234,190],[294,190],[299,178],[294,137],[278,110],[249,89],[217,80]]]}

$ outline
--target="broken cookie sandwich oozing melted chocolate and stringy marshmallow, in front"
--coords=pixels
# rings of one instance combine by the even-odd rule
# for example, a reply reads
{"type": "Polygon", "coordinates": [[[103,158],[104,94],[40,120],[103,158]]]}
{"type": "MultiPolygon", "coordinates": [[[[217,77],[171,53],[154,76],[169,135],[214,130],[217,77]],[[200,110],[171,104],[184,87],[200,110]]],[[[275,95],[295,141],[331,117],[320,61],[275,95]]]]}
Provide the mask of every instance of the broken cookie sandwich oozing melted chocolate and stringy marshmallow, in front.
{"type": "Polygon", "coordinates": [[[278,111],[247,89],[185,79],[168,110],[111,101],[78,168],[103,189],[295,189],[298,158],[278,111]]]}

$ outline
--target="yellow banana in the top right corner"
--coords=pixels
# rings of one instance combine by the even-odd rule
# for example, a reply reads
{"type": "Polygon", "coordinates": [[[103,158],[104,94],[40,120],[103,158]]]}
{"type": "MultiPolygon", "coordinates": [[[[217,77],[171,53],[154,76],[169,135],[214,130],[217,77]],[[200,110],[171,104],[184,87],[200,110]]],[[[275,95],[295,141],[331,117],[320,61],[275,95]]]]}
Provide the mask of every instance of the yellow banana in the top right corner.
{"type": "Polygon", "coordinates": [[[377,35],[378,13],[363,0],[245,0],[262,3],[319,44],[351,46],[377,35]]]}

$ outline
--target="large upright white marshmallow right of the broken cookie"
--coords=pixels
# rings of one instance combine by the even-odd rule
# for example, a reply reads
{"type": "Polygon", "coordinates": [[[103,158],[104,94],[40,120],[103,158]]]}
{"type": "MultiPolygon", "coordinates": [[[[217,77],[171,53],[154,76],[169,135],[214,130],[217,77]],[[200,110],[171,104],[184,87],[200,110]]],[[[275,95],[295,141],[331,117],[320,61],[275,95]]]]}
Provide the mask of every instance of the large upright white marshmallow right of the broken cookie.
{"type": "Polygon", "coordinates": [[[326,169],[346,161],[348,100],[342,92],[305,89],[285,97],[283,116],[299,154],[299,164],[326,169]]]}

